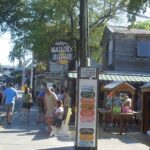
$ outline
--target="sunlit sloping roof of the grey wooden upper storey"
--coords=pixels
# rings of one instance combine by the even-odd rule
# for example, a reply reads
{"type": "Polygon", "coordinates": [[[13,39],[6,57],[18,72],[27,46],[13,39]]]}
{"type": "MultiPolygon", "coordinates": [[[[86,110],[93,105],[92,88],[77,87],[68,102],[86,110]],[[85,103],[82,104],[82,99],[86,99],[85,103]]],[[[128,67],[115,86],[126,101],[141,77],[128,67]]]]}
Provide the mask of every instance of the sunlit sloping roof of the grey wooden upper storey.
{"type": "Polygon", "coordinates": [[[150,35],[150,30],[128,28],[123,26],[107,26],[112,33],[150,35]]]}

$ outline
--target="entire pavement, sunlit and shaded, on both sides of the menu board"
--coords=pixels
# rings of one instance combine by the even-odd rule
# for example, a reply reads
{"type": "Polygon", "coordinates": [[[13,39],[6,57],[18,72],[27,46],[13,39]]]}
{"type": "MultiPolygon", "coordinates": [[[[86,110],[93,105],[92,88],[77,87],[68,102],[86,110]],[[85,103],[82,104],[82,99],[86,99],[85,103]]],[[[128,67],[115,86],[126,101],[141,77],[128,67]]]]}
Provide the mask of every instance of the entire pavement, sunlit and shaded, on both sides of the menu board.
{"type": "MultiPolygon", "coordinates": [[[[11,125],[6,125],[3,118],[0,127],[0,150],[74,150],[74,126],[69,126],[68,131],[65,126],[59,130],[53,127],[55,136],[50,137],[45,132],[46,125],[36,124],[36,114],[37,108],[34,105],[29,123],[22,120],[20,109],[15,113],[11,125]]],[[[149,150],[150,142],[144,142],[144,138],[145,141],[149,140],[148,136],[144,137],[143,134],[119,135],[118,132],[103,131],[101,127],[97,133],[98,150],[149,150]]]]}

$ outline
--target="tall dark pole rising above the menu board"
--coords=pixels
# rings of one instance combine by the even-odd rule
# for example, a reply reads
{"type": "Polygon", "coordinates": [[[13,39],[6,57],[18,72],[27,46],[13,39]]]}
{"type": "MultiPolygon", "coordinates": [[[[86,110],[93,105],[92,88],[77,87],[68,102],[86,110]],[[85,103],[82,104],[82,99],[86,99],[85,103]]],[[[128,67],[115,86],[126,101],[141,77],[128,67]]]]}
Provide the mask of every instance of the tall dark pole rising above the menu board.
{"type": "Polygon", "coordinates": [[[88,0],[80,0],[80,65],[87,66],[88,57],[88,0]]]}

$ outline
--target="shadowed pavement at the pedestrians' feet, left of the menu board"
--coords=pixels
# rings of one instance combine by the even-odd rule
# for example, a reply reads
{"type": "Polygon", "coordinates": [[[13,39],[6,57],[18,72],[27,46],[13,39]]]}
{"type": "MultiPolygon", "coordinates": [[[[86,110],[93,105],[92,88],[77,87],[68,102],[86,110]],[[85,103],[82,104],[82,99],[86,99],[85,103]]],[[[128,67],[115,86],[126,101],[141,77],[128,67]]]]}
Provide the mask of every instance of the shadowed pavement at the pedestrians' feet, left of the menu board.
{"type": "MultiPolygon", "coordinates": [[[[19,104],[20,105],[20,104],[19,104]]],[[[21,105],[20,105],[21,106],[21,105]]],[[[74,138],[70,136],[70,134],[64,134],[62,131],[58,132],[56,136],[50,136],[47,133],[45,124],[37,124],[36,123],[36,115],[37,108],[33,106],[31,108],[31,119],[30,122],[26,122],[22,120],[22,112],[21,108],[17,110],[17,113],[13,116],[13,122],[11,125],[7,125],[3,123],[3,128],[6,129],[4,131],[0,131],[0,133],[17,133],[17,136],[32,136],[32,141],[35,140],[43,140],[43,139],[51,139],[53,137],[57,138],[59,141],[74,141],[74,138]]],[[[5,122],[5,120],[3,121],[5,122]]]]}

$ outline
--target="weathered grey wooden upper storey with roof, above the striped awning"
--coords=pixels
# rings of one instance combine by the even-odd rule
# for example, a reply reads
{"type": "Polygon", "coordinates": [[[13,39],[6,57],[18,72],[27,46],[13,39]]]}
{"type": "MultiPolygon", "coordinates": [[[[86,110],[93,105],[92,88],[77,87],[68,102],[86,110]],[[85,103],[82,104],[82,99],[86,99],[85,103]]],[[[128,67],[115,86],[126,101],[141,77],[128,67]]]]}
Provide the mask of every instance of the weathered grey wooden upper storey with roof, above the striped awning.
{"type": "Polygon", "coordinates": [[[150,31],[107,26],[101,46],[102,70],[150,73],[150,31]]]}

